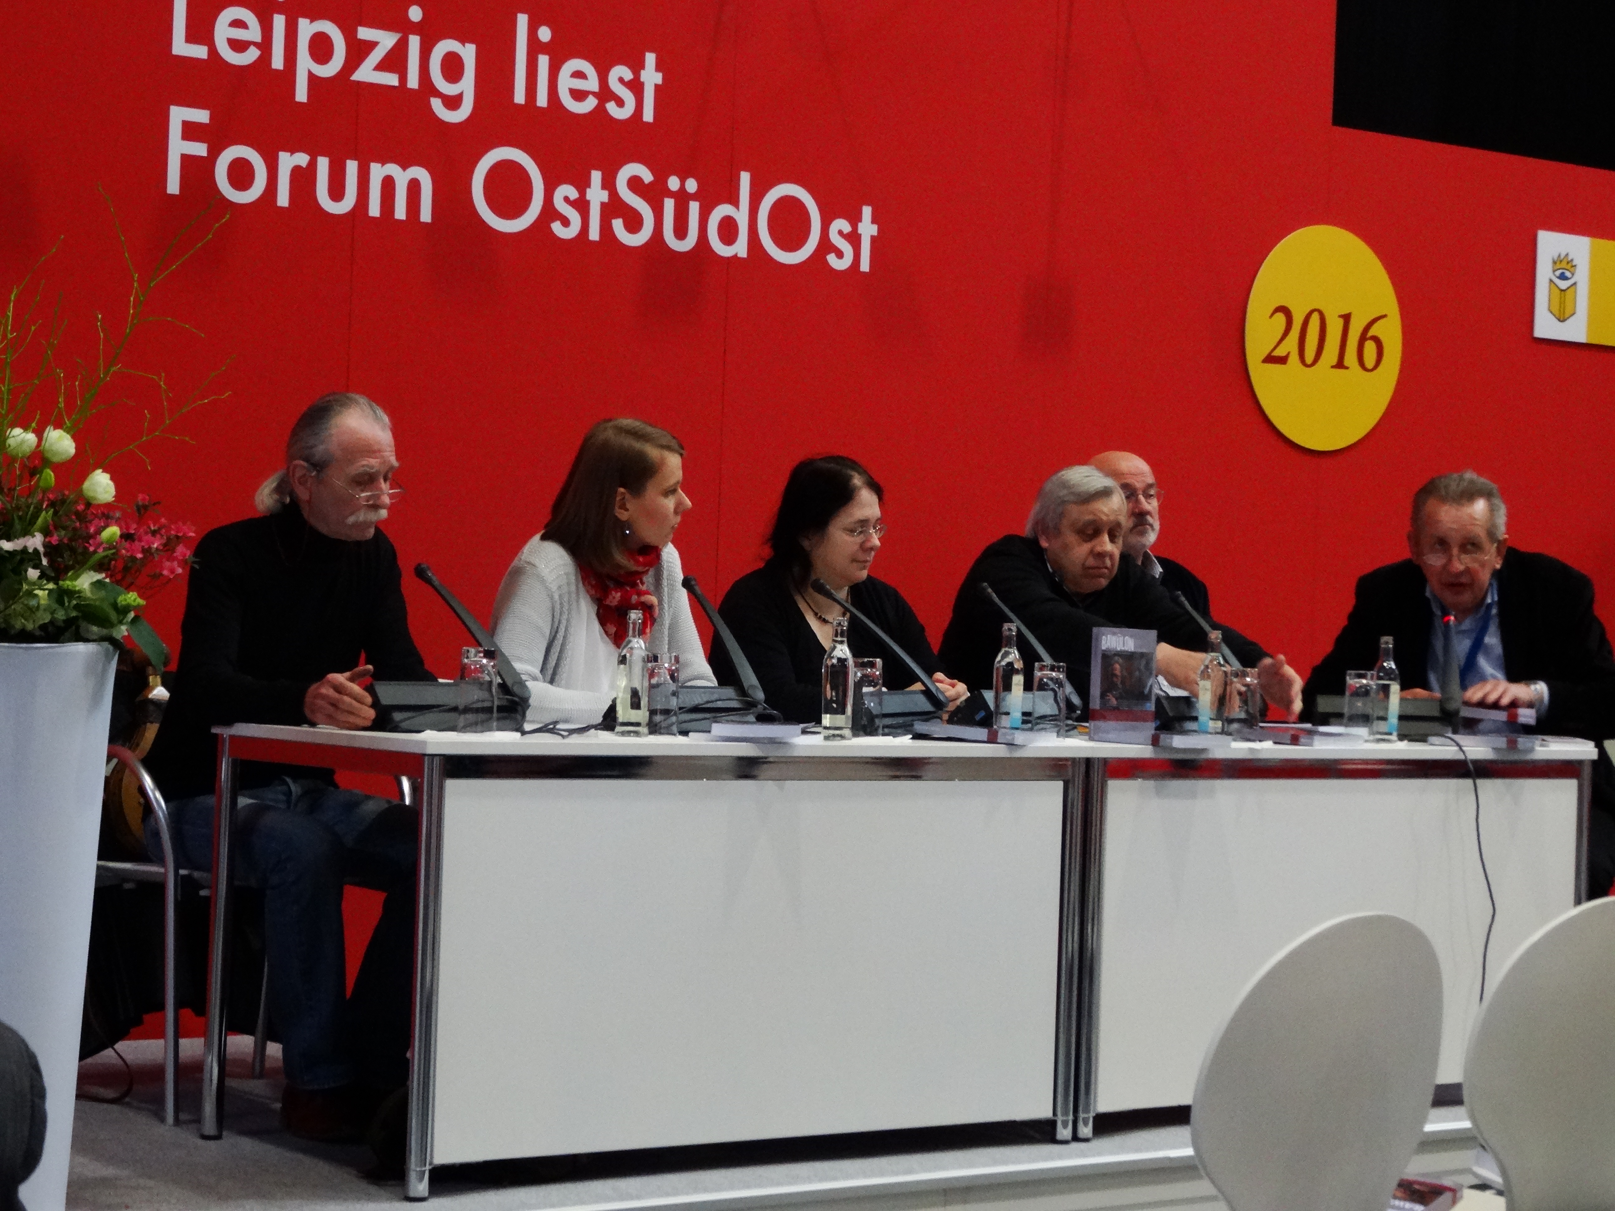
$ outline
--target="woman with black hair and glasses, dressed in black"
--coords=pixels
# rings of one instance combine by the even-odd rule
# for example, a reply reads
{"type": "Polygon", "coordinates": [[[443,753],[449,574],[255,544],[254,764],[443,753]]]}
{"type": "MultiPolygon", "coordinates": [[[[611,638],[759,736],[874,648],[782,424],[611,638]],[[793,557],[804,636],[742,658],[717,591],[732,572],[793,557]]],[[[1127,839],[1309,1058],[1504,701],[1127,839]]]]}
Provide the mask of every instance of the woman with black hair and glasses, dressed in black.
{"type": "MultiPolygon", "coordinates": [[[[824,654],[835,620],[845,614],[814,593],[816,578],[874,618],[950,702],[966,694],[963,683],[942,675],[925,628],[903,594],[869,575],[887,530],[880,520],[882,497],[880,484],[851,459],[824,455],[796,463],[774,517],[769,560],[724,594],[719,614],[751,660],[769,706],[791,722],[819,722],[824,654]]],[[[846,636],[854,657],[882,659],[888,689],[917,688],[908,665],[858,618],[849,622],[846,636]]],[[[719,685],[738,685],[722,644],[712,647],[712,672],[719,685]]]]}

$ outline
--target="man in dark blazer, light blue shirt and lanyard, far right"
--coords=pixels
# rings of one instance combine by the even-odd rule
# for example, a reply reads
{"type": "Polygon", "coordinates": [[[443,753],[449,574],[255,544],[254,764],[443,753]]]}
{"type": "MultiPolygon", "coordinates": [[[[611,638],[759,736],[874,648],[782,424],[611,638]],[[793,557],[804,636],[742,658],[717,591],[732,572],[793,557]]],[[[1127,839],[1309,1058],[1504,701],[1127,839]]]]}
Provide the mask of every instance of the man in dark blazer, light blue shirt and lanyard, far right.
{"type": "MultiPolygon", "coordinates": [[[[1508,546],[1508,510],[1474,471],[1437,475],[1413,496],[1408,554],[1357,581],[1334,647],[1303,689],[1337,694],[1347,668],[1373,668],[1395,639],[1405,698],[1462,694],[1471,706],[1536,707],[1541,731],[1615,736],[1615,654],[1592,609],[1592,581],[1568,564],[1508,546]]],[[[1615,882],[1615,769],[1592,773],[1589,890],[1615,882]]]]}

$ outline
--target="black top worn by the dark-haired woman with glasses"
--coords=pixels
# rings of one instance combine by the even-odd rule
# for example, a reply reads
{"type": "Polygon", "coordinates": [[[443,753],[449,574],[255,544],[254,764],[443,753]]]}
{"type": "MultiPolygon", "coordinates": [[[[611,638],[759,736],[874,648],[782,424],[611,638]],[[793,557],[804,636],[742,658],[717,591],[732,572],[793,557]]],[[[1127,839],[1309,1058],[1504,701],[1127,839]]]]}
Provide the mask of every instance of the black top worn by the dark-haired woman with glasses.
{"type": "MultiPolygon", "coordinates": [[[[880,630],[912,656],[927,677],[942,670],[942,662],[925,638],[925,628],[895,588],[883,580],[867,576],[853,585],[848,601],[874,618],[880,630]]],[[[751,660],[769,706],[793,723],[817,723],[822,709],[825,647],[803,617],[787,573],[767,564],[748,572],[728,586],[717,612],[735,633],[740,651],[751,660]]],[[[914,685],[914,670],[888,652],[858,618],[846,628],[846,646],[854,657],[880,657],[888,689],[914,685]]],[[[711,662],[719,685],[740,685],[728,652],[715,639],[711,662]]]]}

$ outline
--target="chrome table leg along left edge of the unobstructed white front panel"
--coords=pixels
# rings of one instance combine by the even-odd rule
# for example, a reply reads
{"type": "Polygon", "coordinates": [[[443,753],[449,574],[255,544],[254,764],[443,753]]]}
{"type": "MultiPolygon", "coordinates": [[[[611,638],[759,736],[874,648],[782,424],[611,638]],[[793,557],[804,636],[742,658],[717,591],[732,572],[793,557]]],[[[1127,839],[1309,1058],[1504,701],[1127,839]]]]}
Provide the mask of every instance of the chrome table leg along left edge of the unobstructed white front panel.
{"type": "Polygon", "coordinates": [[[423,1200],[431,1172],[431,1103],[438,1011],[438,896],[443,886],[443,757],[425,757],[420,778],[420,856],[415,870],[415,1019],[409,1061],[409,1143],[404,1196],[423,1200]]]}

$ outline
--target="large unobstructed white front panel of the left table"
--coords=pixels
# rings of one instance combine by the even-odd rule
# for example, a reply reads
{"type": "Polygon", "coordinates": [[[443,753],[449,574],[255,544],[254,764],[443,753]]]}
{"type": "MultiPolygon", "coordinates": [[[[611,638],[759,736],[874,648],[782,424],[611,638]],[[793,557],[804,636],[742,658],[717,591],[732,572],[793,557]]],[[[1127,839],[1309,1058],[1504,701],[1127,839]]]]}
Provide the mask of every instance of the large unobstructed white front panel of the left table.
{"type": "Polygon", "coordinates": [[[1048,1117],[1055,781],[455,780],[433,1163],[1048,1117]]]}

